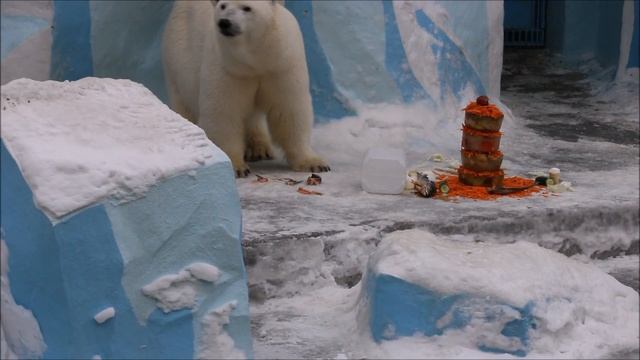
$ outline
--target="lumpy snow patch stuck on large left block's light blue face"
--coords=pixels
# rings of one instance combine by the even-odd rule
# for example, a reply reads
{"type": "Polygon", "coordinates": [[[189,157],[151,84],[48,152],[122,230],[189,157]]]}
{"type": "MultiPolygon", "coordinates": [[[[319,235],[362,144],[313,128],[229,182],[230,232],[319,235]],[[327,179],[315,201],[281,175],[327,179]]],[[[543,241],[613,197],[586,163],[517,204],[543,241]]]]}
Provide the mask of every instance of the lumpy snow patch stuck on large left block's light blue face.
{"type": "Polygon", "coordinates": [[[142,288],[142,293],[156,300],[165,313],[193,309],[197,305],[198,280],[215,283],[220,277],[217,267],[207,263],[193,263],[177,274],[163,275],[142,288]]]}

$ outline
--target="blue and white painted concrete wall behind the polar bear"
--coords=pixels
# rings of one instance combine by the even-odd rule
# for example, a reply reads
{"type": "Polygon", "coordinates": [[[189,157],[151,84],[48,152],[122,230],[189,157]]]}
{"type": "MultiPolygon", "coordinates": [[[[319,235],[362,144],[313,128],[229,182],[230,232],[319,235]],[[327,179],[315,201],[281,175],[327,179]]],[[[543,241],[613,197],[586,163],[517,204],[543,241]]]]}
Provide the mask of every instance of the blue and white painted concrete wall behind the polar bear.
{"type": "MultiPolygon", "coordinates": [[[[129,78],[166,100],[160,44],[171,6],[2,1],[2,82],[129,78]]],[[[303,31],[318,121],[353,114],[358,103],[438,107],[452,98],[499,94],[501,1],[296,0],[286,6],[303,31]]]]}

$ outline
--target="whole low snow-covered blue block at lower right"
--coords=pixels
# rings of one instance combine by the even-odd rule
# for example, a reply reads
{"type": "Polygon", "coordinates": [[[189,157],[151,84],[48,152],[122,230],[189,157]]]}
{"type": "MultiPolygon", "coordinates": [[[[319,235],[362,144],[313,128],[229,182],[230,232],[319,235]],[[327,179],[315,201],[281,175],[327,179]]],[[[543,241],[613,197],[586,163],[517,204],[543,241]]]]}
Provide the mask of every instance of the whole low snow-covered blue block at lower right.
{"type": "Polygon", "coordinates": [[[407,347],[411,338],[425,356],[444,347],[456,357],[599,358],[637,347],[638,316],[638,294],[592,265],[533,243],[469,243],[422,230],[383,240],[359,305],[363,334],[395,356],[392,344],[407,347]]]}

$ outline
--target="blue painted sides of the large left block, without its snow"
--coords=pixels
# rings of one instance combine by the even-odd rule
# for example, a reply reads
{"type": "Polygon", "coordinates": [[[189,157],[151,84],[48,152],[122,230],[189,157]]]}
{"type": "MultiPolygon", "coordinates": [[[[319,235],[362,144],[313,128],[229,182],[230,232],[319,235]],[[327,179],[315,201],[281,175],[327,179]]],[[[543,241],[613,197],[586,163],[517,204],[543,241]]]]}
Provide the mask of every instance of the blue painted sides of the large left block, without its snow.
{"type": "Polygon", "coordinates": [[[11,293],[39,324],[43,358],[195,358],[206,314],[229,302],[236,307],[224,332],[252,357],[240,201],[228,160],[166,179],[143,198],[92,204],[52,223],[4,142],[0,156],[11,293]],[[165,313],[140,291],[196,261],[222,274],[198,288],[196,309],[165,313]],[[115,317],[96,323],[107,307],[115,317]]]}

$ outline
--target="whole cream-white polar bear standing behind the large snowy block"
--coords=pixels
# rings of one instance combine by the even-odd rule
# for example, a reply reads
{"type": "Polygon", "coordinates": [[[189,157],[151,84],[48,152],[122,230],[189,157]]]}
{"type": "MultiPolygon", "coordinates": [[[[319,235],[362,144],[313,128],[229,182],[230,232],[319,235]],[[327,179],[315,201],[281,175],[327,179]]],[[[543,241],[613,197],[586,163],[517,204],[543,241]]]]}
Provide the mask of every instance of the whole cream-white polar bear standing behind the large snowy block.
{"type": "Polygon", "coordinates": [[[271,140],[294,170],[330,170],[310,146],[304,44],[282,1],[176,1],[162,51],[170,106],[204,129],[238,177],[250,172],[245,160],[273,157],[271,140]]]}

